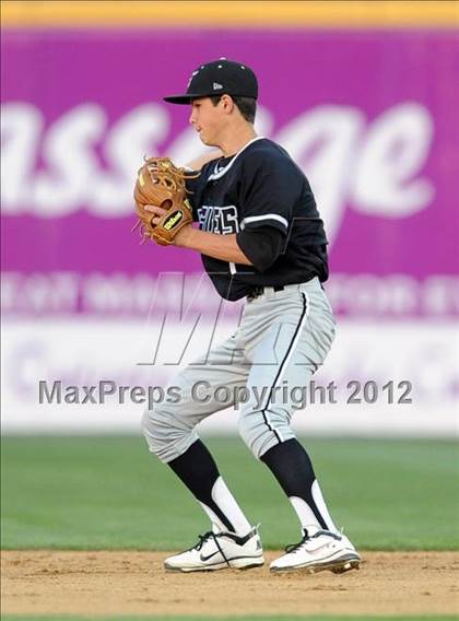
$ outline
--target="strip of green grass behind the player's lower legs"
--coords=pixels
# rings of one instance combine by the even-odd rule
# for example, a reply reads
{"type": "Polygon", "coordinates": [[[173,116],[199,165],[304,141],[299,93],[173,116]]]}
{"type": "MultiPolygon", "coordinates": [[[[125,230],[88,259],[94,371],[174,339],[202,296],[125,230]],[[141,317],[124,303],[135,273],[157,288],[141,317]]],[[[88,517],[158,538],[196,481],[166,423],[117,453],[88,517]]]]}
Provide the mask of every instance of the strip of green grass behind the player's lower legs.
{"type": "MultiPolygon", "coordinates": [[[[237,438],[208,442],[264,547],[298,539],[296,517],[266,466],[237,438]]],[[[458,444],[305,441],[338,525],[362,549],[459,549],[458,444]]],[[[4,549],[189,547],[201,508],[141,437],[2,441],[4,549]]]]}

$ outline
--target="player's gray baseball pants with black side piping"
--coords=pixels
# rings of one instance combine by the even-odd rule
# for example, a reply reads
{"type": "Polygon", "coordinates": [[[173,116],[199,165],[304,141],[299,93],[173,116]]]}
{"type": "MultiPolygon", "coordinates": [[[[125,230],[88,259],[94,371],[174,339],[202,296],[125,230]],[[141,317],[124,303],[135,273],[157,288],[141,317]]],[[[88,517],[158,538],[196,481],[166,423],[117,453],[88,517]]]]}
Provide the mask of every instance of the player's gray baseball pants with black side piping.
{"type": "Polygon", "coordinates": [[[198,440],[198,423],[235,406],[237,394],[246,398],[238,405],[238,431],[258,459],[295,437],[291,420],[298,406],[293,388],[307,386],[323,363],[334,327],[317,278],[279,292],[266,288],[247,302],[235,335],[172,380],[179,402],[163,401],[144,412],[149,449],[164,462],[179,457],[198,440]]]}

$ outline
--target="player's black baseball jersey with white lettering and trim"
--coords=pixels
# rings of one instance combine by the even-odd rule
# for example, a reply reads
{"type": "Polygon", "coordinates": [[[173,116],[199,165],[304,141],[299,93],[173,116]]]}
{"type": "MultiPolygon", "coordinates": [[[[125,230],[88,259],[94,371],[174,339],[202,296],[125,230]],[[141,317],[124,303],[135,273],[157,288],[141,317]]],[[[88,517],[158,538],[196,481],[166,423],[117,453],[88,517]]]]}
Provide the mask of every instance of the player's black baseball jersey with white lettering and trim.
{"type": "Polygon", "coordinates": [[[213,160],[189,179],[193,218],[202,231],[236,234],[252,266],[202,256],[205,271],[226,300],[257,286],[328,278],[327,237],[309,183],[279,144],[255,138],[236,155],[213,160]],[[262,248],[267,256],[261,259],[262,248]],[[259,260],[254,260],[257,257],[259,260]]]}

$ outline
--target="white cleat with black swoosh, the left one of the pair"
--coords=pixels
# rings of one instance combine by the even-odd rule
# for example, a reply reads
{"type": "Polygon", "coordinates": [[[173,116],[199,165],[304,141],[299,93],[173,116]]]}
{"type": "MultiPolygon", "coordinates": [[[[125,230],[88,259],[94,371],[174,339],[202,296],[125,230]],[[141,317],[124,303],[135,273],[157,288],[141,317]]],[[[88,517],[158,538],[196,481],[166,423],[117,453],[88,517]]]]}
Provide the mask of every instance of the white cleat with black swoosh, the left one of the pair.
{"type": "Polygon", "coordinates": [[[245,537],[233,532],[205,532],[198,543],[164,562],[168,572],[205,572],[214,570],[248,570],[264,563],[261,539],[254,528],[245,537]]]}

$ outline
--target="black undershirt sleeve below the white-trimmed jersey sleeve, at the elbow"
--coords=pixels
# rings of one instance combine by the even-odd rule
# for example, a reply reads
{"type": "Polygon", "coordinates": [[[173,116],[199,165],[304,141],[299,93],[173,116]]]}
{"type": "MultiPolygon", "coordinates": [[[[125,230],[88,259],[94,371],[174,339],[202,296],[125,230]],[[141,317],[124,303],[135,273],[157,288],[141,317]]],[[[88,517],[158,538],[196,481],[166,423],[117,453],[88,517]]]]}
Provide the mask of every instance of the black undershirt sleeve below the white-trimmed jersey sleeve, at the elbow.
{"type": "Polygon", "coordinates": [[[279,257],[285,245],[285,235],[273,226],[245,229],[236,234],[236,242],[255,269],[263,272],[279,257]]]}

